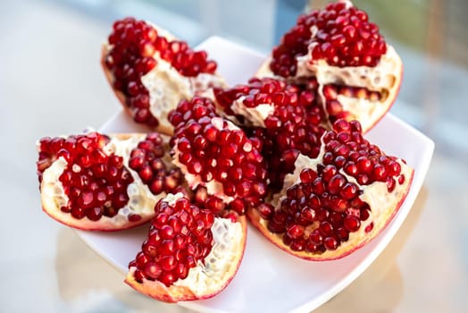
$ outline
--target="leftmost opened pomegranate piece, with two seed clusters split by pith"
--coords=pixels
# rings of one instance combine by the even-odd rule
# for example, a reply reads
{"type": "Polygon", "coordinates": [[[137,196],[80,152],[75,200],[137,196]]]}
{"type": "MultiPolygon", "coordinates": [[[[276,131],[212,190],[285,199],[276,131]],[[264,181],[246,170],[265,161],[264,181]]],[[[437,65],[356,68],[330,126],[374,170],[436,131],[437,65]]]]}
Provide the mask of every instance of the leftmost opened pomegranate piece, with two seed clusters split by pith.
{"type": "Polygon", "coordinates": [[[38,143],[38,177],[46,214],[71,227],[117,231],[143,224],[155,203],[183,182],[158,133],[96,131],[38,143]]]}

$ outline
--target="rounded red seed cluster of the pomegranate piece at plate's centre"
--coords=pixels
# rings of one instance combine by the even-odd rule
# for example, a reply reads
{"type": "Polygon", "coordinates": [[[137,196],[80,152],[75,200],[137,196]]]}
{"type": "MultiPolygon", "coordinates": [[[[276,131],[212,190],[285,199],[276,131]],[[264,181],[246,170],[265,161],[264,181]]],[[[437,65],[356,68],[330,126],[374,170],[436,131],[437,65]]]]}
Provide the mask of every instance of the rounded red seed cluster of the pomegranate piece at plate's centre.
{"type": "Polygon", "coordinates": [[[200,119],[181,131],[179,161],[202,182],[221,182],[226,196],[255,205],[266,195],[263,157],[244,131],[228,130],[227,122],[222,122],[219,130],[210,119],[200,119]]]}

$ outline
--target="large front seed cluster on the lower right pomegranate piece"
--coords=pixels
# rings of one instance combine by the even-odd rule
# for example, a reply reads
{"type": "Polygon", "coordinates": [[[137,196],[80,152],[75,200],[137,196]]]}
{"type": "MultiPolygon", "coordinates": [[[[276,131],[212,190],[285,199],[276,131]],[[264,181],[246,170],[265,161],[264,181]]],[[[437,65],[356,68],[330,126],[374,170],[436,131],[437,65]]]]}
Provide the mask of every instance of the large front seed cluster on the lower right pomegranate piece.
{"type": "Polygon", "coordinates": [[[288,188],[280,210],[261,212],[269,219],[272,233],[285,233],[283,242],[291,250],[335,250],[369,218],[370,207],[358,198],[359,187],[348,182],[334,165],[318,173],[305,168],[300,180],[288,188]]]}

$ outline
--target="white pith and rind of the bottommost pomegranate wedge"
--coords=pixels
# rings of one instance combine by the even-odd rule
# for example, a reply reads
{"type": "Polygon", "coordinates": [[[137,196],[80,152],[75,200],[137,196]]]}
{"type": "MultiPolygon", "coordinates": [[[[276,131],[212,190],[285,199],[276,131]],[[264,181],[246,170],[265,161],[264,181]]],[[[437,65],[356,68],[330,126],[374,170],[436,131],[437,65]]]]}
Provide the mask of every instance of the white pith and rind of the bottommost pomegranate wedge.
{"type": "MultiPolygon", "coordinates": [[[[163,201],[173,206],[182,193],[168,194],[163,201]]],[[[170,302],[178,300],[195,300],[212,297],[230,283],[242,259],[245,246],[245,232],[240,222],[232,222],[230,218],[215,217],[213,226],[213,246],[204,260],[198,260],[195,267],[188,270],[188,276],[167,287],[157,280],[143,278],[143,283],[134,279],[137,269],[132,266],[126,278],[126,283],[139,292],[159,300],[170,302]]]]}

